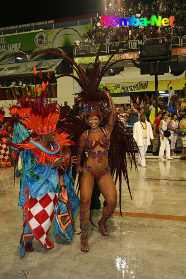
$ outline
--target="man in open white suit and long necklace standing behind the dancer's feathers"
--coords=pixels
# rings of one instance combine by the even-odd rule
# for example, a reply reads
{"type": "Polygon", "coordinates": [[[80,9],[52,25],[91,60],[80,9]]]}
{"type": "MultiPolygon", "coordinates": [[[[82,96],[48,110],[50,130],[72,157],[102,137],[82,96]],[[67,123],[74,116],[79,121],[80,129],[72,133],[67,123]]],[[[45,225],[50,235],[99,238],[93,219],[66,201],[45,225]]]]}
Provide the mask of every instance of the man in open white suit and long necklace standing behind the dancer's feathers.
{"type": "Polygon", "coordinates": [[[145,115],[140,115],[140,120],[134,123],[133,137],[139,149],[138,164],[146,167],[145,153],[148,145],[154,143],[153,129],[151,123],[145,121],[145,115]]]}

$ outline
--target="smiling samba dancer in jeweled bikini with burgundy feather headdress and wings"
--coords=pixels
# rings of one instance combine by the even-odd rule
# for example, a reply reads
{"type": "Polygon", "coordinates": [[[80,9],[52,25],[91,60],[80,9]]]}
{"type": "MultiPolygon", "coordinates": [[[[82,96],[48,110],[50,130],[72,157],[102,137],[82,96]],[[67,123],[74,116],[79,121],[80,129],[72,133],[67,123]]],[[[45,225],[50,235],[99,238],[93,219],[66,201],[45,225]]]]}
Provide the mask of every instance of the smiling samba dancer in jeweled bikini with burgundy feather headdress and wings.
{"type": "MultiPolygon", "coordinates": [[[[103,44],[103,42],[102,42],[103,44]]],[[[74,78],[82,88],[82,92],[77,93],[79,104],[86,106],[86,121],[89,129],[86,130],[86,123],[83,118],[78,119],[75,116],[66,113],[61,108],[61,125],[66,129],[71,138],[78,145],[72,147],[73,153],[77,154],[76,171],[81,175],[80,179],[80,228],[81,250],[84,253],[89,251],[87,239],[87,224],[90,219],[91,196],[94,188],[94,181],[103,194],[106,206],[103,209],[101,219],[98,221],[98,228],[103,236],[108,236],[106,221],[113,214],[117,205],[116,182],[120,181],[120,212],[121,212],[121,181],[122,174],[127,182],[129,192],[129,180],[127,175],[126,152],[132,155],[135,162],[133,137],[116,116],[114,102],[111,99],[108,88],[99,88],[101,79],[109,67],[119,61],[108,65],[113,56],[110,56],[105,65],[100,67],[98,60],[100,50],[96,55],[93,69],[89,77],[83,69],[73,61],[67,54],[60,55],[64,60],[73,65],[77,76],[61,73],[59,77],[69,76],[74,78]],[[108,107],[109,112],[104,111],[108,107]],[[102,109],[102,112],[100,110],[102,109]],[[71,125],[71,124],[73,125],[71,125]],[[88,158],[85,150],[87,150],[88,158]],[[113,177],[116,173],[115,182],[113,177]]],[[[89,66],[88,66],[89,67],[89,66]]],[[[132,162],[132,160],[131,160],[132,162]]]]}

